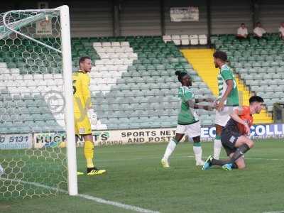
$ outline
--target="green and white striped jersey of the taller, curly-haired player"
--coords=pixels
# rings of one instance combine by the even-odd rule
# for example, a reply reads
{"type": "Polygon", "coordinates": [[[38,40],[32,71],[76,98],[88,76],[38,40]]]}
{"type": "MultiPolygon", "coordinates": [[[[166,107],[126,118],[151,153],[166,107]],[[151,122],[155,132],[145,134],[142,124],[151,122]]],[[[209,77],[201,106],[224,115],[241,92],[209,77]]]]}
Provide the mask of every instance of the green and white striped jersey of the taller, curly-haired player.
{"type": "Polygon", "coordinates": [[[228,95],[224,104],[226,106],[239,106],[239,93],[238,87],[236,87],[236,79],[234,77],[231,68],[228,65],[223,65],[219,71],[219,75],[217,77],[218,80],[218,89],[219,89],[219,99],[221,99],[226,91],[226,80],[233,80],[234,87],[228,95]]]}

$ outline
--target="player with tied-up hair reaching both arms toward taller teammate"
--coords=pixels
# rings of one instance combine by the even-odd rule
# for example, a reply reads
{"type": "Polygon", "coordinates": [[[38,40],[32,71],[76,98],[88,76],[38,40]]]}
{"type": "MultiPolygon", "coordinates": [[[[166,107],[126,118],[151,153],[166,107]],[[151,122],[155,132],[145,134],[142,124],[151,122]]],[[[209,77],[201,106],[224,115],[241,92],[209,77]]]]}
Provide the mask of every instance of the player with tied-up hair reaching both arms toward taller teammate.
{"type": "Polygon", "coordinates": [[[178,97],[182,100],[180,113],[178,114],[178,126],[175,137],[170,140],[165,150],[165,154],[161,160],[164,168],[170,167],[168,158],[175,150],[175,146],[180,142],[185,133],[193,139],[193,152],[195,153],[196,165],[203,165],[202,148],[200,143],[201,126],[197,114],[194,109],[213,110],[213,107],[196,104],[198,102],[213,102],[213,99],[195,99],[195,95],[191,92],[192,85],[190,75],[186,72],[175,72],[178,80],[182,83],[182,87],[178,89],[178,97]]]}

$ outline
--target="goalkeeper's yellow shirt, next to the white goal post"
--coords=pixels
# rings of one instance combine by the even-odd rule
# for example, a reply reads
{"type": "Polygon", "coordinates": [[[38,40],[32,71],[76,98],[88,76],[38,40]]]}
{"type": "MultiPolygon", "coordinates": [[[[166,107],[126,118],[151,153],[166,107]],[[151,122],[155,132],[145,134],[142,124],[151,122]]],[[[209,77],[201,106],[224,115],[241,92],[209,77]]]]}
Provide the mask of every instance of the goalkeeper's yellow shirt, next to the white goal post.
{"type": "Polygon", "coordinates": [[[79,70],[72,75],[73,101],[75,114],[86,114],[92,107],[91,92],[89,91],[90,78],[87,72],[79,70]]]}

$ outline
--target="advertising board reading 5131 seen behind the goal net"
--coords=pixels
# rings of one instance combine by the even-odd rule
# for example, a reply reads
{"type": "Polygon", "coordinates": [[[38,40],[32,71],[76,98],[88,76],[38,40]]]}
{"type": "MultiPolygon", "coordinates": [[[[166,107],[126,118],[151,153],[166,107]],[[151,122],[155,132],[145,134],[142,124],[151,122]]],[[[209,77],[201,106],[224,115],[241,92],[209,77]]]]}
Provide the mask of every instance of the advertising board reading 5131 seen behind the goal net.
{"type": "Polygon", "coordinates": [[[0,135],[0,149],[32,148],[32,134],[0,135]]]}

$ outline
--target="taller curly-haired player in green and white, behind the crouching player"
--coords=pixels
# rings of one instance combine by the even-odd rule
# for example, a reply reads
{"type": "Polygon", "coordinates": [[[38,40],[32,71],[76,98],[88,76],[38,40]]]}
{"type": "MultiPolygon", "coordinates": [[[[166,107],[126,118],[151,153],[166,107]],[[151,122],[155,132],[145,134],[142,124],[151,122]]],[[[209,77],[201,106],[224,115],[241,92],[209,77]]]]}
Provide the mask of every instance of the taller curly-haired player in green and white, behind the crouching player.
{"type": "Polygon", "coordinates": [[[215,117],[216,138],[214,140],[214,158],[219,159],[222,148],[221,133],[226,123],[229,121],[229,114],[239,106],[239,93],[236,87],[236,79],[231,68],[226,65],[227,55],[222,51],[213,54],[214,64],[219,68],[218,89],[219,97],[216,103],[217,111],[215,117]]]}

